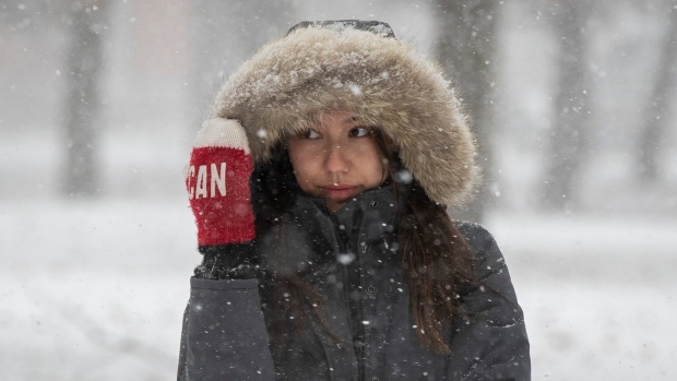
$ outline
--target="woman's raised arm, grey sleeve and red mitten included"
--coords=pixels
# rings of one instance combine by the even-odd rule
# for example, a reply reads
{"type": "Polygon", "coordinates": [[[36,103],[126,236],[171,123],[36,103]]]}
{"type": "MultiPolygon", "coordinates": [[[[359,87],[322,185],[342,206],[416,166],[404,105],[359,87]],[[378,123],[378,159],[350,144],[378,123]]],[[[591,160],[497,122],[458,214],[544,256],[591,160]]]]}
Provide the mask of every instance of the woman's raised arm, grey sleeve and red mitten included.
{"type": "Polygon", "coordinates": [[[178,380],[274,380],[261,311],[249,179],[252,162],[236,120],[207,120],[186,187],[204,255],[191,278],[178,380]]]}

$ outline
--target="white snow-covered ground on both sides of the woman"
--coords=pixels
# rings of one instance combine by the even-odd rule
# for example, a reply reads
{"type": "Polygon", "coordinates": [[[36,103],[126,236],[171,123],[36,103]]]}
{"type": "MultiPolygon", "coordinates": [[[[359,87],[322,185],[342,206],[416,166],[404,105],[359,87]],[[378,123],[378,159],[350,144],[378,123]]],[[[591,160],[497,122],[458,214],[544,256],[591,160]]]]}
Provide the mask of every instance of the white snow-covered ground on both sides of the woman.
{"type": "MultiPolygon", "coordinates": [[[[0,379],[175,377],[199,260],[180,199],[0,203],[0,379]]],[[[495,214],[534,380],[677,377],[675,221],[495,214]]]]}

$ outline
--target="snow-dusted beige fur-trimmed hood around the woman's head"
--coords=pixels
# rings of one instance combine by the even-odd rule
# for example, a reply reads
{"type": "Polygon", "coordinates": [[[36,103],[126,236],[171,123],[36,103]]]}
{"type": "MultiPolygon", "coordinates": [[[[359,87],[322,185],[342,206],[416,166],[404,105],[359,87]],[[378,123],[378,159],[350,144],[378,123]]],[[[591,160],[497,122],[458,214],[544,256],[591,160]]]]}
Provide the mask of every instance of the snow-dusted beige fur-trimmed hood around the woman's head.
{"type": "Polygon", "coordinates": [[[282,139],[306,129],[319,111],[352,112],[395,142],[431,200],[458,206],[478,177],[462,106],[437,64],[379,25],[293,28],[228,79],[211,117],[239,120],[254,162],[264,164],[282,139]]]}

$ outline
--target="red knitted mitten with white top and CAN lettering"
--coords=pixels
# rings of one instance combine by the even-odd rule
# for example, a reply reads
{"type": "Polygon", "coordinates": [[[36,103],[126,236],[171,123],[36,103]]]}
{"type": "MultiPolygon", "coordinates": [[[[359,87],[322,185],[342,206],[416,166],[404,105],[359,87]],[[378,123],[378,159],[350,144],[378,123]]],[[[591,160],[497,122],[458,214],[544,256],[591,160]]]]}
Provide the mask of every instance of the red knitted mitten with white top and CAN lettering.
{"type": "Polygon", "coordinates": [[[237,120],[215,118],[198,132],[186,188],[198,225],[198,245],[241,243],[254,238],[249,142],[237,120]]]}

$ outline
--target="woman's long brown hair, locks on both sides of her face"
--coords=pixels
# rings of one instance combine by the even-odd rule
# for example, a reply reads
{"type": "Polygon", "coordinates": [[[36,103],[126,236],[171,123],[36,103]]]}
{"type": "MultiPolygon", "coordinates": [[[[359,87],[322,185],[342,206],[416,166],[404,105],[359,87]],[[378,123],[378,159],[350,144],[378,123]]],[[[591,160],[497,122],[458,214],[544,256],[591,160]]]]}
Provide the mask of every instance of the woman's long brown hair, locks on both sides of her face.
{"type": "MultiPolygon", "coordinates": [[[[418,340],[436,352],[449,354],[446,333],[450,332],[452,319],[464,313],[459,305],[461,288],[477,283],[470,246],[450,219],[446,206],[431,201],[416,179],[406,176],[394,143],[378,130],[373,132],[373,140],[388,160],[389,178],[397,199],[404,200],[397,204],[396,229],[418,340]]],[[[258,190],[252,199],[256,209],[268,216],[257,218],[259,224],[265,225],[258,226],[258,230],[274,231],[282,242],[285,239],[282,215],[300,192],[284,145],[274,150],[271,164],[254,172],[252,183],[258,190]]],[[[284,260],[276,263],[284,263],[284,260]]],[[[271,291],[264,296],[264,302],[271,311],[269,329],[274,348],[284,347],[292,330],[304,340],[310,340],[304,306],[309,306],[326,332],[337,340],[322,314],[322,295],[305,283],[298,272],[276,269],[268,275],[266,282],[271,282],[271,291]]]]}

